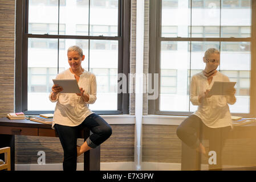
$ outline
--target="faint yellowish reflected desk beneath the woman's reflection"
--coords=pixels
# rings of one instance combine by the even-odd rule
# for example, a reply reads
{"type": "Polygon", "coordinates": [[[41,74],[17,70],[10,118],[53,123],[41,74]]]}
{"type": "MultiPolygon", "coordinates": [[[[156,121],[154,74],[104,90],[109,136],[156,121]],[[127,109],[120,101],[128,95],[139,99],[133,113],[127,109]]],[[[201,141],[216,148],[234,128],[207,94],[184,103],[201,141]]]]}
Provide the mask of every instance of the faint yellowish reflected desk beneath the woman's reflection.
{"type": "MultiPolygon", "coordinates": [[[[255,138],[256,122],[242,126],[234,126],[230,131],[228,139],[255,138]]],[[[207,133],[202,133],[202,139],[208,139],[207,133]]],[[[201,169],[201,153],[193,150],[182,142],[181,146],[181,170],[200,170],[201,169]]]]}

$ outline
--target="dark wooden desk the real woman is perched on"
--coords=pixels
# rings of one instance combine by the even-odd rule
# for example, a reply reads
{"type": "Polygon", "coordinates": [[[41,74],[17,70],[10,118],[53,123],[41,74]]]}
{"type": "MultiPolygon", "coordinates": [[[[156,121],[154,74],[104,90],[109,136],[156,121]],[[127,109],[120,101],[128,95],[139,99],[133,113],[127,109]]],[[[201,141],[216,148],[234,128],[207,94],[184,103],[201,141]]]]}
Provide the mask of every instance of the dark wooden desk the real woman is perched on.
{"type": "MultiPolygon", "coordinates": [[[[30,121],[29,119],[10,120],[0,118],[0,148],[11,147],[11,170],[15,164],[15,140],[14,135],[27,135],[38,137],[58,137],[51,125],[30,121]]],[[[79,138],[84,141],[90,136],[90,130],[84,129],[79,133],[79,138]]],[[[84,171],[100,170],[100,146],[92,148],[84,153],[84,171]]]]}

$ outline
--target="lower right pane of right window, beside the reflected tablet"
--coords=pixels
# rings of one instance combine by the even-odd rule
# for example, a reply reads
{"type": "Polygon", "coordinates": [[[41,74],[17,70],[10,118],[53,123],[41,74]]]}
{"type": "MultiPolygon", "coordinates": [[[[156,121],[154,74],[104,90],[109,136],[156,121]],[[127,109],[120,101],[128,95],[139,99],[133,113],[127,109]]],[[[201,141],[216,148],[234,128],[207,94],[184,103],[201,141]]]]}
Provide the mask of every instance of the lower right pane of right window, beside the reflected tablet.
{"type": "Polygon", "coordinates": [[[230,105],[231,113],[250,112],[250,69],[251,54],[250,42],[223,42],[221,43],[221,70],[237,81],[235,88],[237,102],[230,105]],[[236,73],[235,73],[236,72],[236,73]]]}

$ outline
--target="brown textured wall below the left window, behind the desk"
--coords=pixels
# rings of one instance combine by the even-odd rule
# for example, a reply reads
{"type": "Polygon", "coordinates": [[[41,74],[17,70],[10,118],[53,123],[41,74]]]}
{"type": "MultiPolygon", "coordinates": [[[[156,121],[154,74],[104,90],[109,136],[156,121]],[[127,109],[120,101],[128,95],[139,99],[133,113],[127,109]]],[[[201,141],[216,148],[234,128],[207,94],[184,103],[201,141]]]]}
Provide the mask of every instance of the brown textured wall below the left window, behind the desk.
{"type": "MultiPolygon", "coordinates": [[[[134,160],[134,125],[111,125],[111,137],[101,144],[101,162],[133,162],[134,160]]],[[[78,145],[83,139],[78,139],[78,145]]],[[[15,164],[37,164],[38,151],[46,154],[46,163],[62,163],[63,149],[59,138],[29,137],[15,135],[15,164]]],[[[83,155],[78,163],[83,163],[83,155]]]]}

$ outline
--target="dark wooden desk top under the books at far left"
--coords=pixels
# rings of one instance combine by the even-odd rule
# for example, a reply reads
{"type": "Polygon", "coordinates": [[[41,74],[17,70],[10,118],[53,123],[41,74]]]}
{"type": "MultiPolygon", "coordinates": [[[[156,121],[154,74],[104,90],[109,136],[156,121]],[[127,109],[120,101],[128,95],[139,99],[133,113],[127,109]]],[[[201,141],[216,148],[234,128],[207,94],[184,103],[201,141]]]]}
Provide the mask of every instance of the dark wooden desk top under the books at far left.
{"type": "Polygon", "coordinates": [[[30,119],[0,118],[0,126],[38,127],[43,129],[51,129],[50,124],[30,121],[30,119]]]}

